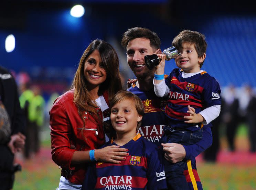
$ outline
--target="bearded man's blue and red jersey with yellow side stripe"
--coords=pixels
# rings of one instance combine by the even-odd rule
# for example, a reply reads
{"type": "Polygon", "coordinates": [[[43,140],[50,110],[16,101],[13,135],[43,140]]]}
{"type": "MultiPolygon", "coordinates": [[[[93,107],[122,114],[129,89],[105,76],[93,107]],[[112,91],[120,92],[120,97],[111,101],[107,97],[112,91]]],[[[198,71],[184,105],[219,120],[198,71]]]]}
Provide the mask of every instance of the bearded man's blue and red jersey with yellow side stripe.
{"type": "MultiPolygon", "coordinates": [[[[164,75],[167,78],[169,75],[164,75]]],[[[163,127],[167,124],[167,117],[164,112],[168,97],[159,98],[154,89],[143,91],[135,84],[127,89],[136,94],[144,105],[144,115],[142,125],[138,131],[145,139],[150,140],[159,146],[160,138],[163,135],[163,127]]],[[[196,144],[183,146],[186,151],[185,159],[188,160],[184,168],[184,175],[189,185],[189,189],[202,190],[202,184],[196,171],[195,157],[211,146],[212,133],[211,127],[205,127],[203,138],[196,144]],[[189,160],[191,159],[191,161],[189,160]]],[[[161,144],[160,144],[161,145],[161,144]]]]}

